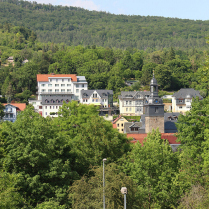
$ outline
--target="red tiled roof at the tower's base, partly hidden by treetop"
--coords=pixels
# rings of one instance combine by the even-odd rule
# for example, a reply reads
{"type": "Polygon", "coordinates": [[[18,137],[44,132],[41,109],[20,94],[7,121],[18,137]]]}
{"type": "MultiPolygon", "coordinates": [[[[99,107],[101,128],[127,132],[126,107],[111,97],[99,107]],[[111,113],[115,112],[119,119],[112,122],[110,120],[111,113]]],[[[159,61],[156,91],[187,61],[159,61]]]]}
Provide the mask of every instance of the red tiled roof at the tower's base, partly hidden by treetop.
{"type": "MultiPolygon", "coordinates": [[[[139,141],[143,145],[144,138],[147,137],[147,134],[127,134],[127,137],[134,139],[131,141],[132,143],[139,141]]],[[[161,139],[167,139],[169,144],[181,144],[180,142],[176,142],[176,133],[161,133],[161,139]]]]}

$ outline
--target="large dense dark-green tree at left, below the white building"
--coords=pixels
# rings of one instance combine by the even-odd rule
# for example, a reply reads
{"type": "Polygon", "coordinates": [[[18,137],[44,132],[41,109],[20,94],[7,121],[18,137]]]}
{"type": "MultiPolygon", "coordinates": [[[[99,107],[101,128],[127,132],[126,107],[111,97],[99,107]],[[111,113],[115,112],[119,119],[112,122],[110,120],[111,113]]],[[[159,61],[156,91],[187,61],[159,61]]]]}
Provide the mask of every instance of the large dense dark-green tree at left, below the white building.
{"type": "Polygon", "coordinates": [[[6,154],[3,168],[18,174],[19,193],[32,205],[52,197],[67,203],[66,191],[78,178],[73,170],[75,156],[52,119],[28,107],[14,123],[3,123],[0,134],[6,154]]]}

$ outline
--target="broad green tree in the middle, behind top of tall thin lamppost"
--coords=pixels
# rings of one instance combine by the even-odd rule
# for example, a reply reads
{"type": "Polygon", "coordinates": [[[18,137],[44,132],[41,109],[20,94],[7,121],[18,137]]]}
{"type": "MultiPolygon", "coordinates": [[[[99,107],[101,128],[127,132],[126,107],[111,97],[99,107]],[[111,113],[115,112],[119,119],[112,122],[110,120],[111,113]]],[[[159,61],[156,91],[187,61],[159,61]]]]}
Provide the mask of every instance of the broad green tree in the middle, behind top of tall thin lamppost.
{"type": "Polygon", "coordinates": [[[59,115],[54,122],[59,125],[59,131],[69,137],[78,156],[76,166],[80,175],[86,173],[90,165],[100,165],[103,158],[114,162],[130,150],[125,135],[99,117],[94,105],[72,101],[62,106],[59,115]]]}

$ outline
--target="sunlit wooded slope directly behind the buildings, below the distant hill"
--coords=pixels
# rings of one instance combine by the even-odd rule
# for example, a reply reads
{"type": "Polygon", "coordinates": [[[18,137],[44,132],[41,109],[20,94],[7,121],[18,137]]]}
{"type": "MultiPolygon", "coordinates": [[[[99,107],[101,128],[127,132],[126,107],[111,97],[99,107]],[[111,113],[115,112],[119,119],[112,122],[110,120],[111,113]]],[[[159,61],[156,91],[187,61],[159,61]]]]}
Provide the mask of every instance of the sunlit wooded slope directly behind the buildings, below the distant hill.
{"type": "Polygon", "coordinates": [[[161,90],[193,87],[207,94],[207,74],[202,73],[207,51],[164,48],[147,52],[128,48],[66,46],[41,43],[36,33],[8,23],[0,26],[0,93],[27,102],[36,92],[36,74],[61,73],[86,76],[89,89],[111,89],[114,98],[124,90],[148,89],[153,70],[161,90]],[[14,64],[8,63],[13,56],[14,64]],[[23,60],[29,60],[24,64],[23,60]],[[202,76],[205,75],[205,76],[202,76]],[[136,80],[128,87],[127,80],[136,80]]]}

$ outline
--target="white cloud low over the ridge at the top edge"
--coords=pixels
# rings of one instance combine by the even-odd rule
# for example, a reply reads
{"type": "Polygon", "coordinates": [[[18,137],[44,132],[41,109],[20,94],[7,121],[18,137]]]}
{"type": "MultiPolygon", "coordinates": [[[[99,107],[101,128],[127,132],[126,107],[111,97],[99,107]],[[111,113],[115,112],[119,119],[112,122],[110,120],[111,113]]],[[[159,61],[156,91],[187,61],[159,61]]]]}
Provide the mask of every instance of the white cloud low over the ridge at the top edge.
{"type": "Polygon", "coordinates": [[[60,2],[63,6],[81,7],[88,10],[100,10],[100,6],[96,5],[92,0],[70,0],[60,2]]]}

